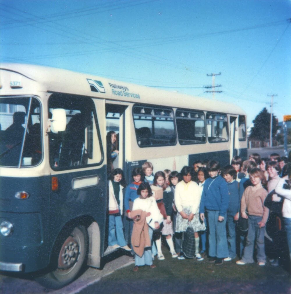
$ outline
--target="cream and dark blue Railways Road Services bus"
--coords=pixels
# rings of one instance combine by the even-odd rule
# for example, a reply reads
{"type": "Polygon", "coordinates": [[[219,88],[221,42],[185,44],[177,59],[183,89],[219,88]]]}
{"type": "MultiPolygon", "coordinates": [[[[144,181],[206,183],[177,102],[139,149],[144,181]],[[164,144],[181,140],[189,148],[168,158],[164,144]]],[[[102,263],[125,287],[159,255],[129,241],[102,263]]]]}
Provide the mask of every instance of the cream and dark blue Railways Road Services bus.
{"type": "MultiPolygon", "coordinates": [[[[247,156],[230,103],[28,64],[0,65],[0,270],[60,288],[107,248],[106,133],[127,182],[195,160],[247,156]]],[[[105,253],[106,254],[106,253],[105,253]]]]}

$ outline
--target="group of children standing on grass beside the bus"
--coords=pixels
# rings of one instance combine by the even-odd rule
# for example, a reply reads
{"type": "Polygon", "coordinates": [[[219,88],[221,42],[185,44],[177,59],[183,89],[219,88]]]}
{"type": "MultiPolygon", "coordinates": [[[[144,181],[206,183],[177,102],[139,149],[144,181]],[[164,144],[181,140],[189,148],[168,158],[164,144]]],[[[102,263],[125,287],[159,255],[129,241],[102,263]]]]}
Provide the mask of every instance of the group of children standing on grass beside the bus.
{"type": "Polygon", "coordinates": [[[256,242],[258,265],[265,265],[264,236],[269,215],[264,206],[268,194],[265,184],[266,175],[269,183],[272,181],[274,162],[271,156],[270,160],[260,159],[254,153],[248,161],[235,156],[231,165],[223,168],[217,161],[195,161],[193,167],[184,166],[180,173],[153,173],[153,165],[146,162],[133,169],[133,182],[128,186],[122,170],[114,169],[109,180],[109,247],[132,250],[134,271],[143,265],[155,268],[155,258],[165,259],[162,235],[172,258],[189,257],[183,250],[183,235],[191,228],[194,244],[190,246],[196,260],[204,260],[203,254],[208,250],[209,263],[220,265],[236,255],[241,258],[238,265],[253,263],[256,242]],[[239,218],[248,220],[247,233],[238,230],[239,218]]]}

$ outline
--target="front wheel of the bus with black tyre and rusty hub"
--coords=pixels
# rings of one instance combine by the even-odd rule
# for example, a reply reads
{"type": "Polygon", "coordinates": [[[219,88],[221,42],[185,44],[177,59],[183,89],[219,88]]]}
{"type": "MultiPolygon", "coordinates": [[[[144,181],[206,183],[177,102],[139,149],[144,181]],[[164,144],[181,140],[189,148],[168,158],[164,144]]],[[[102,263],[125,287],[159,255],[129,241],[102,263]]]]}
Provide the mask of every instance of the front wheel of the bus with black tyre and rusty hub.
{"type": "Polygon", "coordinates": [[[53,249],[50,272],[35,277],[46,288],[60,289],[78,277],[87,261],[88,233],[83,225],[65,230],[53,249]]]}

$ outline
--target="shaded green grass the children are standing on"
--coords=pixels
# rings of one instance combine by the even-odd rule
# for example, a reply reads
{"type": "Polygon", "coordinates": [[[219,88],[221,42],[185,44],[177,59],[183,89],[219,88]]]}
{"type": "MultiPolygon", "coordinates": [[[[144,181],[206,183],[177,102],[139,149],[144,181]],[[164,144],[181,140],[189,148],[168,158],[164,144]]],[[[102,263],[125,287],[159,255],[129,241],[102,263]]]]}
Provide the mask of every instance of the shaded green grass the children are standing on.
{"type": "Polygon", "coordinates": [[[291,293],[290,275],[282,266],[256,263],[236,265],[235,261],[222,265],[172,258],[163,247],[165,260],[155,259],[155,269],[134,264],[116,270],[102,278],[98,284],[88,287],[87,293],[291,293]],[[97,292],[96,292],[97,291],[97,292]],[[288,291],[288,292],[287,292],[288,291]]]}

